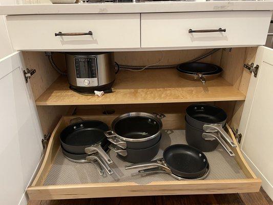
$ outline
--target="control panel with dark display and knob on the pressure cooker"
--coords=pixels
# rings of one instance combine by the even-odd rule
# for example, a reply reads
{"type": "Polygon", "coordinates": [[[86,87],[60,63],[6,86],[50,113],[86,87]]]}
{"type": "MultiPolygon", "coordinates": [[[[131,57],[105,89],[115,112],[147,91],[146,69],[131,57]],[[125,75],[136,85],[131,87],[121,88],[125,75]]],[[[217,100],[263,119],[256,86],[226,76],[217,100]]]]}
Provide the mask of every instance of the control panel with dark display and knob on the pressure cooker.
{"type": "Polygon", "coordinates": [[[97,58],[74,57],[77,86],[98,86],[97,58]]]}

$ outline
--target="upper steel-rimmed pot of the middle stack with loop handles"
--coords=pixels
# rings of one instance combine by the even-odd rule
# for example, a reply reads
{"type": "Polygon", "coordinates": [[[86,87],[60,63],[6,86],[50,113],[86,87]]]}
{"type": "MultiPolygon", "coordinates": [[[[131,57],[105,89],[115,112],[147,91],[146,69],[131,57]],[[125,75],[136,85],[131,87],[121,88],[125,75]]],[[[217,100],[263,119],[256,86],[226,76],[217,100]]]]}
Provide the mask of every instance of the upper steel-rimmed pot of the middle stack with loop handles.
{"type": "Polygon", "coordinates": [[[131,112],[118,116],[112,130],[104,132],[108,140],[121,149],[146,149],[160,139],[163,114],[131,112]]]}

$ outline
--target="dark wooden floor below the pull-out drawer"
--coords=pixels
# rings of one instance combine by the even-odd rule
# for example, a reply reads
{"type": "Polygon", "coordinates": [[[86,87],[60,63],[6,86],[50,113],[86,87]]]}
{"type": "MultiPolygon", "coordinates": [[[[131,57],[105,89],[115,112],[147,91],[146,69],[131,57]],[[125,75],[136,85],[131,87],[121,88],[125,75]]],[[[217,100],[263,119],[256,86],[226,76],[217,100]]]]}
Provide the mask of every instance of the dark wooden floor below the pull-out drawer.
{"type": "Polygon", "coordinates": [[[94,199],[29,201],[28,205],[273,205],[263,189],[246,194],[208,194],[179,196],[141,196],[94,199]]]}

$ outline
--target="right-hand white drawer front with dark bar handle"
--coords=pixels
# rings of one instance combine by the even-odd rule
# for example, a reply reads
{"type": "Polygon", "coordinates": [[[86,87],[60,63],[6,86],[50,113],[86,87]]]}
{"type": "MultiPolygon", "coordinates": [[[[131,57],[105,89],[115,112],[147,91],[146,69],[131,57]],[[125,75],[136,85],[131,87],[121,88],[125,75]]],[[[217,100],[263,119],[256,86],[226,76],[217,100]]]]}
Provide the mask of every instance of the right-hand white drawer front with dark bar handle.
{"type": "Polygon", "coordinates": [[[141,47],[221,47],[264,45],[271,11],[141,14],[141,47]],[[189,33],[226,29],[226,32],[189,33]]]}

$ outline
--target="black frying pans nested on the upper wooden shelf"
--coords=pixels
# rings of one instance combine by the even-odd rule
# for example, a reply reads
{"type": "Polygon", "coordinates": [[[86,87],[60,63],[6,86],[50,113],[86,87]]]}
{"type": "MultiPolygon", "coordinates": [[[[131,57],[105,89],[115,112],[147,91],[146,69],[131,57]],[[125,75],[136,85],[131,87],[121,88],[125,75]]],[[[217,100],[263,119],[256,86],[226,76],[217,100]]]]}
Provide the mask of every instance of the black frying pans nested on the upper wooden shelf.
{"type": "Polygon", "coordinates": [[[205,84],[207,80],[218,77],[223,69],[207,63],[183,63],[178,65],[176,70],[182,78],[195,81],[201,80],[201,83],[205,84]]]}

